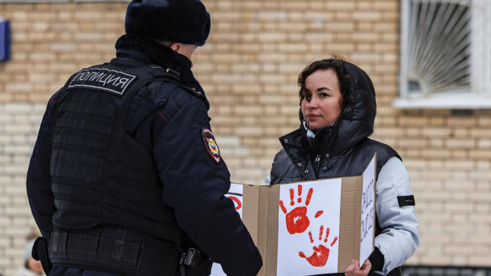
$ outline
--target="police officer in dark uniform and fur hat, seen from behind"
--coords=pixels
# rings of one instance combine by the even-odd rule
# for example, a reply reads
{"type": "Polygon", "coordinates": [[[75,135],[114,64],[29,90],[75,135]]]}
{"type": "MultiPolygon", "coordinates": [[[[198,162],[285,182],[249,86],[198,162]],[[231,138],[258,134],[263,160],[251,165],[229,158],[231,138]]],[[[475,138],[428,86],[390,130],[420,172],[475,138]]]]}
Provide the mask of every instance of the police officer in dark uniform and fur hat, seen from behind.
{"type": "Polygon", "coordinates": [[[256,275],[262,260],[233,202],[192,52],[199,0],[133,0],[117,58],[50,99],[27,175],[49,275],[256,275]]]}

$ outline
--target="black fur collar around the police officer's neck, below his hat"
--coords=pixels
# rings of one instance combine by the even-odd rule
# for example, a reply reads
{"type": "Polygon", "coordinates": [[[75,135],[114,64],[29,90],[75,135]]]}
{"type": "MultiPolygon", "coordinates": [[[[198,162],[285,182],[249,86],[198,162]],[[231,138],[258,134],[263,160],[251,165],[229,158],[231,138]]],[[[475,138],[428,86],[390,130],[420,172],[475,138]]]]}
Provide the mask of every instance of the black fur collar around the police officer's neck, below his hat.
{"type": "Polygon", "coordinates": [[[195,88],[205,95],[203,87],[194,78],[191,71],[191,61],[165,45],[141,37],[123,35],[116,41],[116,56],[170,67],[181,74],[181,80],[186,86],[195,88]]]}

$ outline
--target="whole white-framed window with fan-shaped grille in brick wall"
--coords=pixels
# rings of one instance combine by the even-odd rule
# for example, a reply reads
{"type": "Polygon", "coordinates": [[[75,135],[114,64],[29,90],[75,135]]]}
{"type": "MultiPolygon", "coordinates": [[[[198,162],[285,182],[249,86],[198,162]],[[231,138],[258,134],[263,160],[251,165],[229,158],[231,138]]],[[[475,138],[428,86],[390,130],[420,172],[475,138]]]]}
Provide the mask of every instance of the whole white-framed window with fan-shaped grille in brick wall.
{"type": "Polygon", "coordinates": [[[396,108],[491,108],[491,1],[401,0],[396,108]]]}

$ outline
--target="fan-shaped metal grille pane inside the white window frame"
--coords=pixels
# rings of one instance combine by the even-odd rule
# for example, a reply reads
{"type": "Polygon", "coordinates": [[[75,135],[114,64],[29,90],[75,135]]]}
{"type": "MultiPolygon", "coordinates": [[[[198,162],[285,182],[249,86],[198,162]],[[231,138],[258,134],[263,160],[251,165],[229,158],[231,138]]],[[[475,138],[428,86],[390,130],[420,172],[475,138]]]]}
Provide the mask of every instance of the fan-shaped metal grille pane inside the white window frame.
{"type": "Polygon", "coordinates": [[[405,1],[401,94],[471,88],[471,1],[405,1]]]}

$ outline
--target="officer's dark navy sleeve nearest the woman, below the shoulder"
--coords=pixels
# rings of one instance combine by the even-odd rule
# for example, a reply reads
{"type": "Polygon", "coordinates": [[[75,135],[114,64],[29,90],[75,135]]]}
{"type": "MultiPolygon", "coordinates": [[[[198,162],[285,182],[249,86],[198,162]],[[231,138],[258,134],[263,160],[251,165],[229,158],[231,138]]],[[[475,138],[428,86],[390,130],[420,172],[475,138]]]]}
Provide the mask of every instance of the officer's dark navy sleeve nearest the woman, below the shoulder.
{"type": "Polygon", "coordinates": [[[175,209],[179,227],[228,275],[256,275],[262,266],[259,250],[224,194],[230,173],[205,146],[203,128],[210,129],[205,104],[184,104],[153,146],[163,182],[163,200],[175,209]]]}

